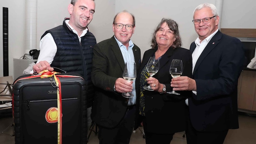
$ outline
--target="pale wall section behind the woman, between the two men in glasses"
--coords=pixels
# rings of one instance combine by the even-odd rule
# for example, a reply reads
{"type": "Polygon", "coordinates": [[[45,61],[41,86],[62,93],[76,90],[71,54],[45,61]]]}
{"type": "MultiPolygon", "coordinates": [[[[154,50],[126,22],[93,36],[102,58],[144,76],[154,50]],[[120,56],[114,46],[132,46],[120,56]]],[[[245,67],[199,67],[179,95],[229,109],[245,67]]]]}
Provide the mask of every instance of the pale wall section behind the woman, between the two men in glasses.
{"type": "MultiPolygon", "coordinates": [[[[192,13],[194,8],[203,2],[205,0],[193,2],[187,0],[152,0],[151,2],[145,0],[116,0],[117,6],[115,8],[117,12],[126,9],[135,15],[135,34],[131,39],[141,48],[143,55],[144,51],[151,49],[152,33],[164,17],[171,18],[178,23],[182,37],[182,47],[189,49],[191,42],[197,37],[192,23],[192,13]]],[[[208,2],[214,4],[215,0],[208,0],[208,2]]]]}

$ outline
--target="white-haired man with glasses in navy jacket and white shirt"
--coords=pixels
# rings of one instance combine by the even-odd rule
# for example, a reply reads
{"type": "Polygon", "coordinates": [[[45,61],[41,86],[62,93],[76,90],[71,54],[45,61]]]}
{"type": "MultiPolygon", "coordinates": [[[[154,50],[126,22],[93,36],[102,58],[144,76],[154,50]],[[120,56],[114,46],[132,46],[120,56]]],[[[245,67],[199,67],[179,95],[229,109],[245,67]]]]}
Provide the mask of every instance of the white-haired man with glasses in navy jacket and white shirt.
{"type": "Polygon", "coordinates": [[[213,4],[200,4],[193,13],[198,38],[190,50],[192,78],[173,78],[174,90],[192,90],[188,105],[188,144],[223,144],[228,129],[238,129],[237,81],[244,51],[239,39],[222,34],[213,4]]]}

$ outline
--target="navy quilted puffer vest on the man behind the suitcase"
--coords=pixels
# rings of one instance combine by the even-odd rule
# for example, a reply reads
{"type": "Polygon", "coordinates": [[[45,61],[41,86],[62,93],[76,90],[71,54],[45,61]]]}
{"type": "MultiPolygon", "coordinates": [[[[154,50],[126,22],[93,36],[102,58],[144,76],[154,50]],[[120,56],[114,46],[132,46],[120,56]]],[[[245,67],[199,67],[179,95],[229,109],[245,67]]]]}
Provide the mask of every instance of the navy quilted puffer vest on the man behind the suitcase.
{"type": "MultiPolygon", "coordinates": [[[[91,82],[91,67],[93,46],[96,44],[95,36],[91,32],[87,32],[81,37],[79,42],[77,34],[75,34],[65,23],[56,28],[46,31],[52,34],[57,45],[57,52],[52,61],[51,66],[60,68],[70,73],[80,74],[87,83],[86,97],[87,107],[91,107],[94,98],[94,86],[91,82]]],[[[43,38],[43,36],[41,38],[43,38]]]]}

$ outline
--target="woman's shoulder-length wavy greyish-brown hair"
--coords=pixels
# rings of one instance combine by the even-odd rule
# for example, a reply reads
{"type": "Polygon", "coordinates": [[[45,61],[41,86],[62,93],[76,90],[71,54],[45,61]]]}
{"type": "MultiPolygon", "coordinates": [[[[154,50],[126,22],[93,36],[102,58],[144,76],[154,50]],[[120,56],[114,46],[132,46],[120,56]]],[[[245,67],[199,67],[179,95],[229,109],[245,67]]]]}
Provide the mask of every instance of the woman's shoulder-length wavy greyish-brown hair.
{"type": "Polygon", "coordinates": [[[160,30],[161,25],[163,23],[167,23],[169,29],[174,32],[174,36],[175,36],[176,40],[174,41],[174,43],[172,44],[171,47],[173,47],[173,49],[175,49],[177,47],[181,47],[182,42],[181,42],[181,38],[180,38],[180,32],[179,32],[179,29],[178,29],[178,23],[176,23],[176,21],[174,21],[172,19],[166,19],[166,18],[163,18],[161,20],[161,22],[157,25],[156,30],[154,31],[153,37],[152,37],[152,40],[151,40],[151,47],[153,49],[157,47],[156,32],[158,32],[158,30],[160,30]]]}

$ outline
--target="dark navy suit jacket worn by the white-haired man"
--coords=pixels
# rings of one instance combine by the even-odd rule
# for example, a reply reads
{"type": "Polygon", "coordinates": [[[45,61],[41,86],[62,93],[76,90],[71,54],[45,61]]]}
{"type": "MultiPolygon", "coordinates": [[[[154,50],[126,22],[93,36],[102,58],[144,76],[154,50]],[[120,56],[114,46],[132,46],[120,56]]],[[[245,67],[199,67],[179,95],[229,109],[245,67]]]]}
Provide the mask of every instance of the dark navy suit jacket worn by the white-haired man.
{"type": "MultiPolygon", "coordinates": [[[[195,50],[195,42],[190,46],[195,50]]],[[[244,51],[239,39],[218,31],[198,58],[193,71],[197,95],[189,98],[189,112],[197,131],[239,128],[237,81],[243,68],[244,51]]]]}

